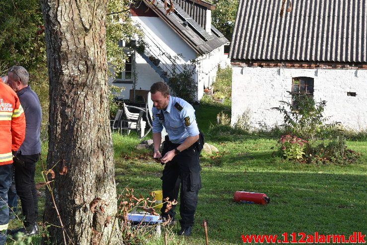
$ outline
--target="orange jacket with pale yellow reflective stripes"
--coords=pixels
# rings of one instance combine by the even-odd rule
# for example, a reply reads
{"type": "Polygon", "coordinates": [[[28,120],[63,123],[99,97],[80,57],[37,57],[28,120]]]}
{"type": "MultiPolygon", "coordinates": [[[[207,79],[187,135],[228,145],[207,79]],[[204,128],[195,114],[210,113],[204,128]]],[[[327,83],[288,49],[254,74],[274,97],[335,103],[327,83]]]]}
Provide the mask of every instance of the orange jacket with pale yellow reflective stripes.
{"type": "Polygon", "coordinates": [[[0,78],[0,165],[13,163],[25,137],[25,116],[16,93],[0,78]]]}

